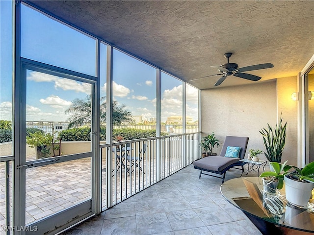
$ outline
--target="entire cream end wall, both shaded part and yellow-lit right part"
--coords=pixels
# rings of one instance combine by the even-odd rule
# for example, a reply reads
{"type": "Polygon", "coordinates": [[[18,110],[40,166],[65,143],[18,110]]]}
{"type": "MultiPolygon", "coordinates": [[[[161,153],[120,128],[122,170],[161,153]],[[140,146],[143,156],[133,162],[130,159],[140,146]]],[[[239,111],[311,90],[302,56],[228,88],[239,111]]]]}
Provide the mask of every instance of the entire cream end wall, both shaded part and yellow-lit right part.
{"type": "MultiPolygon", "coordinates": [[[[297,164],[297,102],[291,94],[297,91],[297,78],[276,80],[244,86],[202,90],[202,132],[215,132],[224,140],[226,135],[249,136],[248,149],[265,151],[260,130],[267,123],[275,126],[282,112],[287,124],[286,146],[282,160],[297,164]]],[[[221,146],[214,150],[220,153],[221,146]]],[[[246,157],[248,150],[246,152],[246,157]]],[[[264,155],[261,159],[266,159],[264,155]]]]}

